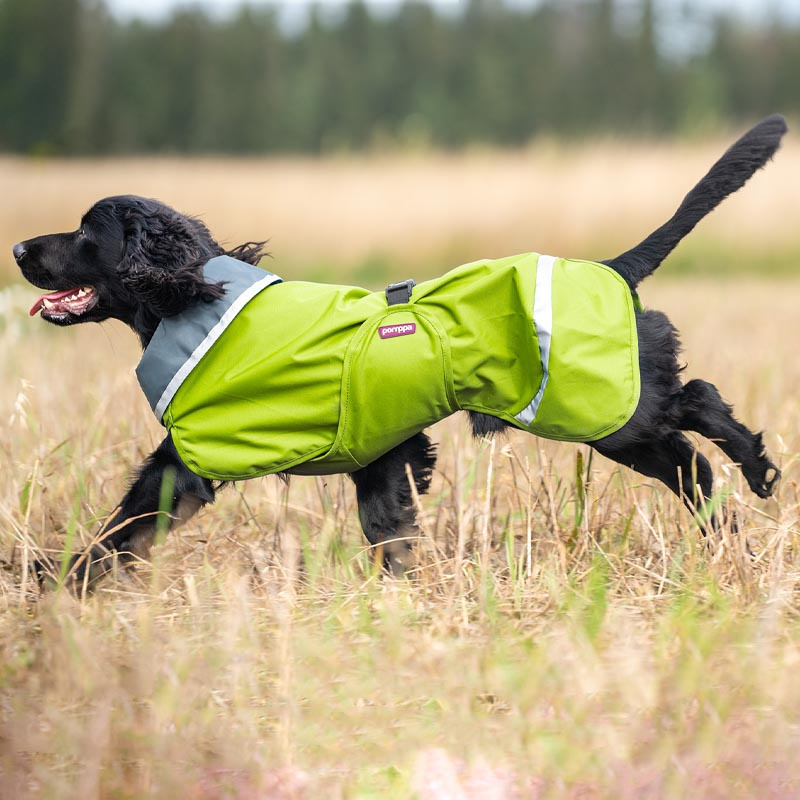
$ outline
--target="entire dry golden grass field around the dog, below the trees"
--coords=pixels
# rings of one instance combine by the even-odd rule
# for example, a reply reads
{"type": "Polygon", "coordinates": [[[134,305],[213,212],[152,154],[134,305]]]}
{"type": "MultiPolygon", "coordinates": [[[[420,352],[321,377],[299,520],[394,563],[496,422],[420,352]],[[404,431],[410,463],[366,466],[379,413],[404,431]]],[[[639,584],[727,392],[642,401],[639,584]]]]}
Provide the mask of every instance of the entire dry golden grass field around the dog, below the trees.
{"type": "MultiPolygon", "coordinates": [[[[717,150],[3,161],[0,264],[11,280],[11,243],[120,191],[232,242],[270,235],[292,277],[380,288],[515,250],[602,256],[717,150]]],[[[56,330],[27,317],[34,290],[0,292],[0,798],[800,795],[798,178],[790,146],[642,287],[682,332],[687,378],[765,429],[783,469],[761,501],[702,444],[742,529],[713,547],[662,486],[589,448],[473,442],[454,417],[433,429],[414,582],[376,574],[346,479],[262,479],[93,597],[40,595],[31,559],[91,540],[159,427],[127,331],[56,330]],[[726,253],[763,261],[675,279],[726,253]],[[782,275],[759,275],[771,258],[782,275]]]]}

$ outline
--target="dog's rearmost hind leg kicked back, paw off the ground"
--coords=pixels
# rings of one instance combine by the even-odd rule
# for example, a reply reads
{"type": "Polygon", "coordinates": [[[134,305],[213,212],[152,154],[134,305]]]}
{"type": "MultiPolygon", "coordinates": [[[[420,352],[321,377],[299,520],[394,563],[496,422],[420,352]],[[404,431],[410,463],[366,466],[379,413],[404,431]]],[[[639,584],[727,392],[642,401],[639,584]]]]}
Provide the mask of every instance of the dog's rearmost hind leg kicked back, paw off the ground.
{"type": "Polygon", "coordinates": [[[750,488],[759,497],[774,491],[780,470],[769,460],[760,433],[753,433],[734,416],[733,409],[720,397],[717,387],[707,381],[689,381],[675,398],[676,425],[695,431],[713,441],[741,465],[750,488]]]}

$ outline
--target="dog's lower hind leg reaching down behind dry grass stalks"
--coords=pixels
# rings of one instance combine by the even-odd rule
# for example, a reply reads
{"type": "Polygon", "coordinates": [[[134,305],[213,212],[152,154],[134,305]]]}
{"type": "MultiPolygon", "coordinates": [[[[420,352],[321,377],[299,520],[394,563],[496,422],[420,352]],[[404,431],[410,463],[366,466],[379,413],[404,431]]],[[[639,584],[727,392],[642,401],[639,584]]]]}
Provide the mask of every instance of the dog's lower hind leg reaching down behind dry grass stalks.
{"type": "MultiPolygon", "coordinates": [[[[649,478],[657,478],[677,494],[692,512],[702,511],[711,497],[713,474],[708,459],[678,431],[661,438],[614,446],[603,440],[592,446],[607,458],[630,467],[649,478]]],[[[701,527],[704,533],[716,530],[712,514],[701,527]]]]}

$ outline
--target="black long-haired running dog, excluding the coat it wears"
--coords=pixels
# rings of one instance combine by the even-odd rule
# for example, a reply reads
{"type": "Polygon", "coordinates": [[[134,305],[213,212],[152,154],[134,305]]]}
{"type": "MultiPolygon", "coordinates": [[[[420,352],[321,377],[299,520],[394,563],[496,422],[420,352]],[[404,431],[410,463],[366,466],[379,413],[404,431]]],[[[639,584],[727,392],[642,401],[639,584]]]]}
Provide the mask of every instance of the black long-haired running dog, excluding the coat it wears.
{"type": "MultiPolygon", "coordinates": [[[[644,241],[603,262],[631,291],[652,273],[678,242],[725,197],[739,189],[772,157],[786,131],[782,117],[761,122],[737,141],[686,196],[674,216],[644,241]]],[[[23,275],[51,294],[31,314],[56,325],[119,319],[147,346],[162,319],[194,304],[221,297],[224,286],[204,280],[203,265],[223,254],[208,229],[154,200],[110,197],[96,203],[77,231],[51,234],[14,245],[23,275]]],[[[256,264],[263,243],[249,242],[228,255],[256,264]]],[[[591,442],[598,452],[663,481],[691,508],[701,508],[712,490],[711,467],[683,431],[713,440],[741,465],[759,497],[772,494],[780,476],[767,457],[761,435],[738,422],[717,389],[702,380],[682,384],[675,329],[658,311],[636,316],[641,394],[632,418],[615,433],[591,442]]],[[[490,436],[507,426],[498,418],[468,412],[473,433],[490,436]]],[[[409,539],[416,531],[406,465],[416,490],[425,493],[436,460],[434,448],[418,432],[363,469],[352,472],[361,524],[367,539],[384,548],[385,563],[402,571],[409,539]]],[[[182,462],[170,438],[145,461],[131,488],[108,521],[99,544],[76,557],[72,574],[93,580],[108,568],[110,554],[123,561],[144,557],[155,536],[159,494],[165,471],[174,470],[173,521],[182,521],[213,502],[219,485],[199,477],[182,462]]],[[[706,527],[715,526],[713,516],[706,527]]]]}

